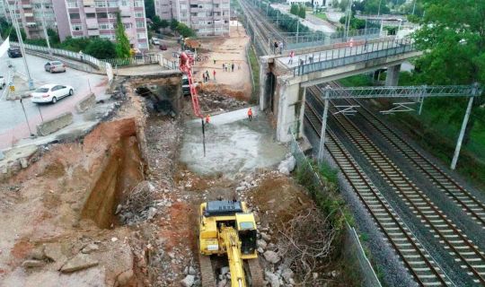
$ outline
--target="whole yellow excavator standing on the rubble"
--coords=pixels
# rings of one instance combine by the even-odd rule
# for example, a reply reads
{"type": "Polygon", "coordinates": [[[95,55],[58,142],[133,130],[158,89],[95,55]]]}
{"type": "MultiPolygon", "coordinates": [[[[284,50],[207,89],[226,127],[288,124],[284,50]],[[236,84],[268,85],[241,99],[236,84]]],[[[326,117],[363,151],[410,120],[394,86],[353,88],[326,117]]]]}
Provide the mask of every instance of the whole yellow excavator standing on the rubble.
{"type": "Polygon", "coordinates": [[[202,286],[216,286],[211,256],[226,256],[231,287],[263,286],[256,250],[256,222],[244,202],[217,200],[200,204],[199,263],[202,286]]]}

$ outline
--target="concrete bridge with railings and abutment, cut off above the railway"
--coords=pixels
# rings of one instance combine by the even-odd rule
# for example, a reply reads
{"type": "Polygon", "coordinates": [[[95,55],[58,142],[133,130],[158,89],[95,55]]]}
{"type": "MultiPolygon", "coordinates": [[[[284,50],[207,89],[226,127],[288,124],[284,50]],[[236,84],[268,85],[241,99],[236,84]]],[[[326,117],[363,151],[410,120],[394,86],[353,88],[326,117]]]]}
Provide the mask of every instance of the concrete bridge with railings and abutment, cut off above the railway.
{"type": "Polygon", "coordinates": [[[294,57],[290,53],[260,57],[260,109],[277,116],[281,142],[290,140],[290,129],[303,132],[307,87],[383,68],[388,71],[386,85],[396,86],[401,63],[422,52],[411,39],[386,37],[299,49],[294,57]]]}

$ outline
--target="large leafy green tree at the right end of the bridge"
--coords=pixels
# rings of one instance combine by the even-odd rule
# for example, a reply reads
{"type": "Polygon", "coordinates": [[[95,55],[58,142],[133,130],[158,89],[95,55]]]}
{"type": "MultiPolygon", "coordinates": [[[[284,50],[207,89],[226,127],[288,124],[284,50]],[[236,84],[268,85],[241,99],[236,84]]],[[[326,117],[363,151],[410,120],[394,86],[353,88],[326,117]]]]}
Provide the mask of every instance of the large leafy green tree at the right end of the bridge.
{"type": "MultiPolygon", "coordinates": [[[[417,47],[424,52],[417,60],[421,81],[428,84],[485,83],[485,1],[423,0],[426,15],[414,34],[417,47]]],[[[440,100],[443,110],[461,100],[440,100]]],[[[475,106],[481,104],[475,99],[475,106]]],[[[462,106],[460,106],[462,107],[462,106]]],[[[464,143],[469,139],[476,120],[485,120],[483,111],[475,109],[470,117],[464,143]],[[480,116],[480,117],[479,117],[480,116]]],[[[451,120],[460,122],[463,109],[451,120]]]]}

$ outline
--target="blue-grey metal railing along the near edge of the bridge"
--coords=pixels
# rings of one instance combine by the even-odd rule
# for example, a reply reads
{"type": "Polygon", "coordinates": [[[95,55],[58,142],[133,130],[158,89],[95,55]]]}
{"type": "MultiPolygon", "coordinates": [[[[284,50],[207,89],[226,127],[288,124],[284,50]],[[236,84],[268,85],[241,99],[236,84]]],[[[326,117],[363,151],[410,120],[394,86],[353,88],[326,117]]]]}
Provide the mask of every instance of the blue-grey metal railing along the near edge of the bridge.
{"type": "Polygon", "coordinates": [[[397,39],[385,42],[376,42],[363,46],[325,51],[324,53],[308,55],[299,59],[299,65],[293,67],[293,75],[310,74],[324,71],[334,67],[355,64],[371,59],[389,57],[415,51],[409,39],[397,39]],[[317,57],[318,56],[318,57],[317,57]],[[317,59],[317,62],[314,62],[317,59]]]}

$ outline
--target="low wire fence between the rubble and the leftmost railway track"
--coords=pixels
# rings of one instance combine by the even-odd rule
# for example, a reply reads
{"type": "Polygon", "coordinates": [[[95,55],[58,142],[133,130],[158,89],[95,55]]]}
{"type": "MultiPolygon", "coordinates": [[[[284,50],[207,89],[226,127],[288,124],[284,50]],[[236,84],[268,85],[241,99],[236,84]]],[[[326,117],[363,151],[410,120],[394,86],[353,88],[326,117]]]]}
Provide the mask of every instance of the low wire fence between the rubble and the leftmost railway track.
{"type": "MultiPolygon", "coordinates": [[[[296,167],[298,169],[304,169],[304,172],[310,175],[310,178],[308,179],[311,182],[307,182],[307,184],[313,185],[313,187],[316,187],[316,190],[319,190],[319,192],[321,193],[326,193],[322,178],[313,169],[311,161],[306,157],[306,155],[304,155],[304,152],[302,151],[300,145],[295,139],[295,135],[292,134],[292,136],[291,152],[295,156],[296,167]]],[[[340,213],[341,212],[342,211],[340,210],[340,213]]],[[[377,275],[375,274],[374,268],[372,267],[369,259],[366,257],[366,252],[364,251],[364,248],[362,248],[362,244],[358,239],[357,231],[353,227],[351,227],[347,221],[345,244],[343,245],[343,247],[343,253],[348,262],[356,263],[356,267],[362,279],[361,286],[381,287],[382,285],[379,282],[377,275]]]]}

